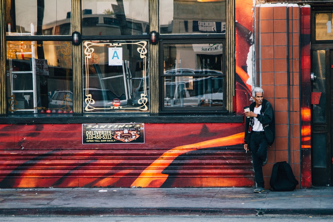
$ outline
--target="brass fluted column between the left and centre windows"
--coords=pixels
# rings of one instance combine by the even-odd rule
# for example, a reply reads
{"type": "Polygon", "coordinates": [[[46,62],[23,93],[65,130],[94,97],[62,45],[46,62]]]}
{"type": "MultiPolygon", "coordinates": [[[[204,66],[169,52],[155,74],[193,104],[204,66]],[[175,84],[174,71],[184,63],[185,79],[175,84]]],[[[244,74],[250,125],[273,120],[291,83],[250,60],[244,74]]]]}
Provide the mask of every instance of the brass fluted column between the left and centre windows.
{"type": "MultiPolygon", "coordinates": [[[[81,33],[81,0],[72,0],[71,9],[72,33],[81,33]]],[[[82,43],[72,45],[73,60],[73,113],[83,112],[83,89],[82,89],[82,43]]]]}

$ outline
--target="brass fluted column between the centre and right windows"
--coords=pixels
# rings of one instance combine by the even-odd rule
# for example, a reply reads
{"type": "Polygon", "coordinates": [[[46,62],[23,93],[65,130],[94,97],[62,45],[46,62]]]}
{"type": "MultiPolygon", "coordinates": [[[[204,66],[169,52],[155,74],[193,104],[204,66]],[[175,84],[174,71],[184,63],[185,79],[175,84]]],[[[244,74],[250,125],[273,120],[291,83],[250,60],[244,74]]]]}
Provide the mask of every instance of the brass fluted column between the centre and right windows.
{"type": "MultiPolygon", "coordinates": [[[[149,1],[149,27],[150,32],[159,33],[159,1],[149,1]]],[[[150,34],[150,33],[149,33],[150,34]]],[[[156,45],[149,44],[149,105],[150,113],[159,112],[160,105],[160,88],[159,88],[159,43],[156,45]],[[156,61],[156,62],[152,62],[156,61]]]]}

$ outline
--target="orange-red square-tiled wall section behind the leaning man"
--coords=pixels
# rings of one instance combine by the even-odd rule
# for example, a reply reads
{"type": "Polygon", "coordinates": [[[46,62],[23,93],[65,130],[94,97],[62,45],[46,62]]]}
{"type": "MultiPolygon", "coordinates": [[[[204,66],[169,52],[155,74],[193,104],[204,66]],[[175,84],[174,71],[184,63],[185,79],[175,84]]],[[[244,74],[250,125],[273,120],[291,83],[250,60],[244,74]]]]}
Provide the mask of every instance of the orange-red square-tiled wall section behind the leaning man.
{"type": "Polygon", "coordinates": [[[276,124],[275,142],[269,148],[268,162],[263,167],[265,186],[269,188],[273,164],[288,162],[288,157],[295,177],[301,184],[301,8],[260,5],[256,13],[259,14],[256,16],[259,23],[255,28],[255,35],[259,39],[256,41],[256,60],[259,60],[256,62],[259,64],[256,75],[260,77],[257,85],[261,84],[264,97],[274,108],[276,124]]]}

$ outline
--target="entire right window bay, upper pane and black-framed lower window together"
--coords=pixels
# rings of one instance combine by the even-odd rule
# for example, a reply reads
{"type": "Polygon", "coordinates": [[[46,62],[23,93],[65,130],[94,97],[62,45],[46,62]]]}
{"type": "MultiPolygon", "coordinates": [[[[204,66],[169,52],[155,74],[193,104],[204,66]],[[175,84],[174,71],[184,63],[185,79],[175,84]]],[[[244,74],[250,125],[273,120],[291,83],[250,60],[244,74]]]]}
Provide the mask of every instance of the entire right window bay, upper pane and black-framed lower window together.
{"type": "Polygon", "coordinates": [[[159,3],[160,111],[226,111],[226,0],[159,3]]]}

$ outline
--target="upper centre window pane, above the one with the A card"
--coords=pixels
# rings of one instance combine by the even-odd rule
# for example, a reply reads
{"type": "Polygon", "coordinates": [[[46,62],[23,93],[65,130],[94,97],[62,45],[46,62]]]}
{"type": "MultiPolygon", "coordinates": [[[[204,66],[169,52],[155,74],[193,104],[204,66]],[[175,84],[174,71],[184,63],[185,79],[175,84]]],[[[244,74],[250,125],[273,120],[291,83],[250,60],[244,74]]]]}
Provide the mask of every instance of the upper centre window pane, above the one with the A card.
{"type": "Polygon", "coordinates": [[[83,35],[149,33],[149,0],[83,0],[82,9],[83,35]]]}

